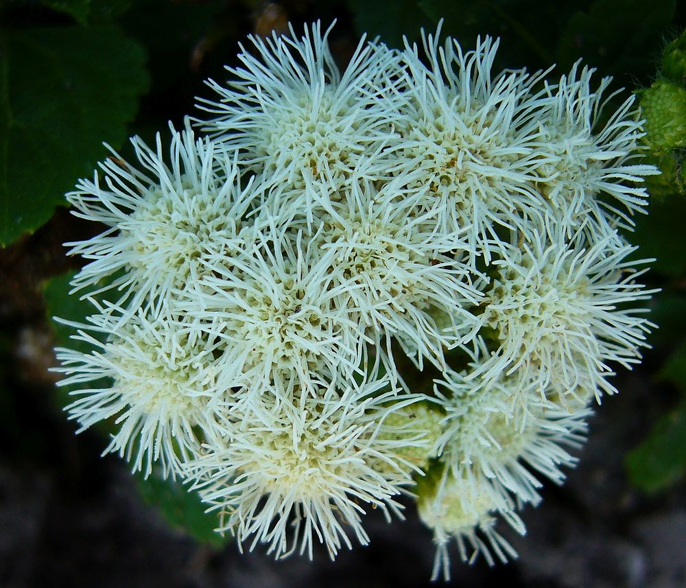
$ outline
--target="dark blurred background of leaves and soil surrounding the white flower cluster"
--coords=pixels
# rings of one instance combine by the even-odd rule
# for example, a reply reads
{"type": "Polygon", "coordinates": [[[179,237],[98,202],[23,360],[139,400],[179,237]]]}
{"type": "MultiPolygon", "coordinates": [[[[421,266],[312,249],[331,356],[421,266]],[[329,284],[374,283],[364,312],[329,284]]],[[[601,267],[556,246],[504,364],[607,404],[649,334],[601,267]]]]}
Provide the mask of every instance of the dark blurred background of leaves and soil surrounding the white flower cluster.
{"type": "MultiPolygon", "coordinates": [[[[64,333],[48,320],[71,316],[64,274],[78,268],[63,242],[97,228],[62,208],[64,191],[91,174],[110,142],[147,141],[167,121],[194,114],[208,77],[226,78],[246,34],[296,32],[321,19],[342,65],[368,31],[396,47],[421,26],[465,47],[501,37],[499,67],[560,75],[583,58],[626,91],[663,78],[663,50],[686,26],[674,0],[0,0],[0,587],[372,588],[429,586],[431,534],[406,501],[407,521],[371,512],[371,543],[331,563],[205,541],[198,505],[144,486],[114,456],[102,432],[75,436],[61,412],[52,349],[64,333]],[[47,292],[47,296],[45,296],[47,292]],[[176,501],[176,502],[175,502],[176,501]],[[189,523],[190,521],[190,523],[189,523]],[[180,523],[191,527],[189,534],[180,523]]],[[[686,75],[686,69],[685,69],[686,75]]],[[[682,80],[686,87],[686,78],[682,80]]],[[[671,80],[678,86],[679,80],[671,80]]],[[[626,94],[625,94],[626,95],[626,94]]],[[[669,110],[669,108],[667,108],[669,110]]],[[[674,116],[679,116],[678,111],[674,116]]],[[[686,121],[686,112],[683,113],[686,121]]],[[[685,122],[686,124],[686,122],[685,122]]],[[[664,166],[650,217],[632,242],[659,257],[646,277],[661,328],[616,397],[591,419],[580,465],[527,508],[526,537],[510,565],[460,563],[456,587],[683,588],[686,586],[686,206],[683,145],[650,156],[664,166]],[[671,167],[670,167],[671,166],[671,167]]],[[[440,582],[439,582],[440,584],[440,582]]]]}

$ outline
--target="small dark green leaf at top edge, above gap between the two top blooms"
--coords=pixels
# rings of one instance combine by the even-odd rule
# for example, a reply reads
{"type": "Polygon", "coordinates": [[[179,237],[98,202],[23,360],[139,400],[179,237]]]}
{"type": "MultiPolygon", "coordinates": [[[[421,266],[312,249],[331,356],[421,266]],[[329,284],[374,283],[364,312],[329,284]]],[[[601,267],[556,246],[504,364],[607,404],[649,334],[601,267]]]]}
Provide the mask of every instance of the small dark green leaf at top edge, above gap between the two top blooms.
{"type": "Polygon", "coordinates": [[[421,27],[429,31],[436,28],[416,0],[348,0],[348,7],[355,14],[359,34],[367,33],[372,38],[378,35],[390,47],[403,47],[403,35],[410,43],[417,40],[421,27]]]}

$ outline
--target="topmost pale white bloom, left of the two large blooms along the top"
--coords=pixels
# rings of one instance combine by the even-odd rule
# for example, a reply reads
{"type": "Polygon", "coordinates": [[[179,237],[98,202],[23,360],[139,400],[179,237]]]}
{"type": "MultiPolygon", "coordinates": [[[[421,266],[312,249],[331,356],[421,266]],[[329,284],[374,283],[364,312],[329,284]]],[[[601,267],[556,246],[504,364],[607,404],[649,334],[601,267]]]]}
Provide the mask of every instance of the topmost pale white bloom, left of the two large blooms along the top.
{"type": "MultiPolygon", "coordinates": [[[[241,46],[244,68],[235,79],[210,81],[219,101],[200,108],[218,115],[204,130],[244,154],[244,165],[265,181],[303,189],[325,179],[340,187],[357,161],[392,143],[398,116],[391,79],[397,56],[385,45],[360,40],[343,73],[329,50],[331,28],[306,27],[289,36],[250,36],[257,56],[241,46]]],[[[370,173],[388,175],[381,159],[370,173]]]]}

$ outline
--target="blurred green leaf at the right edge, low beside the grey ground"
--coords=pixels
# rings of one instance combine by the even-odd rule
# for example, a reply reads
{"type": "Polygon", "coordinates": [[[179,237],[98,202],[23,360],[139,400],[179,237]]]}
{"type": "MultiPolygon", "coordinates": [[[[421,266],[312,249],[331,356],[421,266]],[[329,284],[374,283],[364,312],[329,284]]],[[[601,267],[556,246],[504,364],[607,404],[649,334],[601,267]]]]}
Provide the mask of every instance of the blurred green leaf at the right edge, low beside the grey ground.
{"type": "Polygon", "coordinates": [[[680,480],[686,471],[686,402],[663,416],[646,440],[626,456],[631,483],[654,493],[680,480]]]}

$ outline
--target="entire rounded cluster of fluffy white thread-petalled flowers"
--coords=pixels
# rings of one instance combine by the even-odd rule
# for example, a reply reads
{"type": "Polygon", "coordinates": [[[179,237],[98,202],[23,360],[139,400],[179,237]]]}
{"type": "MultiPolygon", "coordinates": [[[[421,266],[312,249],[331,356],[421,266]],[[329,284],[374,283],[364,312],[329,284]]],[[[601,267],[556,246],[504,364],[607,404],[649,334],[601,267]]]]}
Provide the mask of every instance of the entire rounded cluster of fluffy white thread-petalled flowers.
{"type": "Polygon", "coordinates": [[[651,327],[619,233],[656,173],[639,114],[589,69],[493,73],[490,38],[363,38],[341,72],[328,34],[251,38],[203,137],[134,138],[67,195],[106,226],[68,244],[94,308],[69,414],[239,545],[333,558],[405,492],[436,574],[451,538],[504,561],[497,520],[523,532],[651,327]]]}

